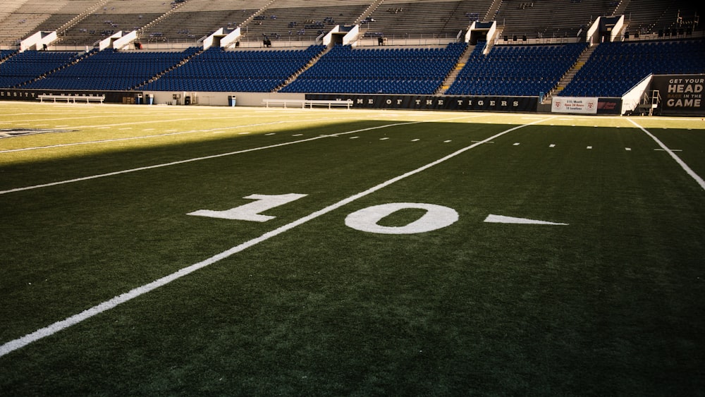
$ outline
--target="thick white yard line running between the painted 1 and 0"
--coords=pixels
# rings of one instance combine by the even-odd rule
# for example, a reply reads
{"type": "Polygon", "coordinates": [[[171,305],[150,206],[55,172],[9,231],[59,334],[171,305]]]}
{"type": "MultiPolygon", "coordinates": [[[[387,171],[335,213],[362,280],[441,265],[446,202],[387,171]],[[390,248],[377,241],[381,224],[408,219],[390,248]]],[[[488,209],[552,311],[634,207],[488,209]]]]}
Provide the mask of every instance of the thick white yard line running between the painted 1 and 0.
{"type": "MultiPolygon", "coordinates": [[[[547,118],[545,120],[550,120],[550,119],[551,118],[547,118]]],[[[523,124],[522,126],[516,126],[513,128],[509,128],[508,130],[503,130],[501,133],[497,133],[496,135],[493,135],[490,138],[487,138],[486,140],[482,140],[480,142],[473,143],[470,146],[466,146],[466,147],[463,147],[462,149],[458,149],[455,152],[447,154],[445,157],[441,157],[440,159],[437,159],[436,161],[431,161],[429,164],[426,164],[424,166],[420,166],[417,169],[414,169],[412,171],[408,171],[407,173],[403,173],[400,176],[396,176],[394,178],[391,178],[388,181],[382,182],[379,185],[373,186],[372,188],[369,188],[369,189],[364,190],[360,193],[357,193],[357,194],[352,195],[350,197],[347,197],[343,200],[340,200],[336,203],[333,203],[333,204],[329,205],[328,207],[325,207],[323,209],[319,209],[318,211],[313,212],[312,214],[304,216],[304,217],[297,219],[295,221],[292,221],[289,224],[279,226],[278,228],[275,228],[272,231],[268,231],[268,232],[262,234],[262,236],[253,238],[252,240],[249,240],[249,241],[245,241],[245,243],[235,245],[235,247],[230,248],[229,250],[225,250],[223,252],[220,252],[219,254],[213,255],[212,257],[204,259],[201,262],[192,264],[188,267],[184,267],[183,269],[175,271],[172,274],[168,274],[167,276],[161,277],[161,279],[154,280],[151,283],[145,284],[144,286],[140,286],[140,287],[134,288],[131,291],[123,293],[121,295],[117,295],[116,297],[111,298],[109,300],[106,300],[103,303],[99,303],[98,305],[90,307],[89,309],[84,310],[78,314],[74,314],[71,317],[67,317],[66,319],[63,319],[59,322],[55,322],[54,324],[51,324],[49,326],[45,326],[42,329],[37,329],[37,331],[34,331],[31,334],[27,334],[27,335],[22,336],[20,338],[6,342],[0,346],[0,357],[6,355],[8,353],[13,352],[14,350],[18,350],[19,348],[23,348],[24,346],[27,346],[32,342],[38,341],[41,338],[45,338],[47,336],[54,335],[57,332],[68,328],[69,326],[73,326],[75,324],[78,324],[78,323],[86,320],[86,319],[90,319],[90,317],[94,317],[97,314],[101,314],[102,312],[106,312],[107,310],[111,310],[112,308],[114,308],[118,305],[121,305],[122,303],[128,302],[129,300],[133,300],[134,298],[137,298],[138,296],[144,295],[145,293],[148,293],[149,291],[153,291],[154,289],[157,289],[161,286],[165,286],[166,284],[171,283],[171,281],[175,281],[177,279],[180,279],[181,277],[186,276],[188,274],[191,274],[194,271],[197,271],[197,270],[202,269],[204,267],[207,267],[211,264],[219,262],[222,259],[226,259],[227,257],[231,257],[232,255],[235,255],[238,252],[242,252],[243,250],[246,250],[247,248],[250,248],[254,245],[257,245],[257,244],[262,243],[266,240],[269,240],[270,238],[278,236],[281,233],[284,233],[284,232],[289,231],[297,226],[305,224],[308,221],[312,221],[313,219],[316,219],[319,216],[323,216],[325,214],[328,214],[329,212],[333,212],[334,210],[341,208],[347,204],[350,204],[351,202],[354,202],[355,200],[359,200],[362,197],[366,197],[368,195],[371,195],[372,193],[375,193],[377,190],[381,190],[383,188],[386,188],[387,186],[392,185],[393,183],[397,183],[398,181],[402,181],[405,178],[409,178],[410,176],[414,176],[417,173],[421,173],[423,171],[426,171],[427,169],[430,169],[433,166],[437,166],[438,164],[441,164],[445,161],[453,159],[454,157],[458,157],[460,154],[465,153],[468,150],[473,149],[474,147],[482,145],[482,143],[484,143],[485,141],[499,138],[502,135],[510,133],[514,130],[518,130],[519,128],[524,128],[526,126],[532,126],[533,124],[536,124],[536,123],[541,123],[541,121],[544,121],[544,120],[534,121],[532,123],[523,124]]],[[[413,122],[409,122],[409,123],[396,123],[396,124],[391,124],[388,126],[404,126],[407,124],[429,123],[429,122],[431,122],[431,121],[413,121],[413,122]]],[[[365,128],[364,130],[374,130],[377,128],[384,128],[384,127],[385,126],[365,128]]],[[[351,131],[351,133],[353,133],[353,132],[355,132],[355,131],[351,131]]],[[[317,139],[317,138],[309,138],[309,139],[317,139]]]]}

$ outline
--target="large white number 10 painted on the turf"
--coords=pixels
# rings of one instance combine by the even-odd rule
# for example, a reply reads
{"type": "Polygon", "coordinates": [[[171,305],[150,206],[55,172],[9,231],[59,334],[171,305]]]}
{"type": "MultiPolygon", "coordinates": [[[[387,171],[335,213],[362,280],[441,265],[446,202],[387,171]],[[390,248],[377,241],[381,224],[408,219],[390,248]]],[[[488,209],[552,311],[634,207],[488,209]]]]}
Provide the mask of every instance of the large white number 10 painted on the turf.
{"type": "MultiPolygon", "coordinates": [[[[275,216],[263,215],[269,209],[299,200],[306,195],[290,193],[288,195],[249,195],[243,197],[257,200],[239,207],[214,211],[199,209],[188,215],[207,216],[210,218],[231,219],[236,221],[266,222],[275,216]]],[[[345,218],[345,225],[355,230],[381,234],[413,234],[434,231],[444,228],[458,221],[458,212],[455,209],[436,204],[423,204],[416,202],[391,202],[374,205],[353,212],[345,218]],[[405,226],[381,226],[379,221],[402,209],[424,209],[426,212],[417,220],[405,226]]]]}

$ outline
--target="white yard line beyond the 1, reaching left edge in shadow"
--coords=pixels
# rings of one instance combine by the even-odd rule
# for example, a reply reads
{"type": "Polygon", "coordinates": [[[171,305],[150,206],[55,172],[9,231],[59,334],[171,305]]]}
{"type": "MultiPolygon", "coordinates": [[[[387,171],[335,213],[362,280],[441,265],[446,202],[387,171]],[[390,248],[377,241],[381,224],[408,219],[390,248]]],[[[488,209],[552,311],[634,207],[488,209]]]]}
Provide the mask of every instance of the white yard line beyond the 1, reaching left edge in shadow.
{"type": "MultiPolygon", "coordinates": [[[[425,123],[428,123],[430,121],[425,121],[425,123]]],[[[282,123],[290,123],[290,121],[282,121],[282,123]]],[[[346,134],[353,134],[353,133],[360,133],[362,131],[369,131],[369,130],[376,130],[379,128],[387,128],[387,127],[394,127],[394,126],[405,126],[408,124],[418,124],[418,123],[424,123],[424,121],[410,121],[410,122],[405,122],[405,123],[393,123],[393,124],[385,124],[384,126],[376,126],[376,127],[369,127],[369,128],[362,128],[361,130],[353,130],[353,131],[346,131],[344,133],[336,133],[336,134],[331,134],[331,135],[319,135],[314,138],[305,138],[301,140],[294,140],[292,142],[283,142],[283,143],[277,143],[275,145],[268,145],[268,146],[261,146],[261,147],[252,147],[251,149],[243,149],[243,150],[238,150],[235,152],[228,152],[228,153],[221,153],[221,154],[213,154],[211,156],[205,156],[205,157],[195,157],[193,159],[185,159],[185,160],[178,160],[178,161],[171,161],[169,163],[162,163],[162,164],[154,164],[152,166],[143,166],[143,167],[138,167],[135,169],[125,169],[123,171],[114,171],[114,172],[109,172],[109,173],[99,173],[97,175],[92,175],[92,176],[83,176],[81,178],[74,178],[74,179],[67,179],[66,181],[57,181],[57,182],[51,182],[51,183],[42,183],[41,185],[32,185],[32,186],[25,186],[24,188],[13,188],[13,189],[8,189],[8,190],[0,190],[0,195],[5,195],[7,193],[15,193],[15,192],[21,192],[23,190],[32,190],[32,189],[39,189],[39,188],[48,188],[49,186],[56,186],[56,185],[63,185],[66,183],[74,183],[74,182],[81,182],[81,181],[89,181],[91,179],[97,179],[97,178],[104,178],[106,176],[116,176],[116,175],[121,175],[123,173],[131,173],[131,172],[137,172],[137,171],[145,171],[147,169],[157,169],[161,167],[166,167],[166,166],[175,166],[178,164],[186,164],[190,163],[193,161],[201,161],[201,160],[209,160],[209,159],[216,159],[218,157],[226,157],[226,156],[232,156],[233,154],[243,154],[247,152],[256,152],[257,150],[264,150],[264,149],[272,149],[274,147],[281,147],[281,146],[287,146],[287,145],[295,145],[297,143],[302,143],[302,142],[309,142],[312,140],[318,140],[321,138],[329,138],[329,137],[337,137],[338,135],[346,135],[346,134]]]]}

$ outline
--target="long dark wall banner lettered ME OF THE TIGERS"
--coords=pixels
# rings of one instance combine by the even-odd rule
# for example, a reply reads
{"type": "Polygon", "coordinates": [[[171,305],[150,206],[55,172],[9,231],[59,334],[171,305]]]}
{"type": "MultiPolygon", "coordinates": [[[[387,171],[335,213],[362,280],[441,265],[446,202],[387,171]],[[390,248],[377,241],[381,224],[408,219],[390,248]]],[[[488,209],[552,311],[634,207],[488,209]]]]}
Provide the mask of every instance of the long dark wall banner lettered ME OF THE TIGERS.
{"type": "Polygon", "coordinates": [[[536,112],[539,97],[438,97],[403,94],[306,94],[306,99],[353,101],[357,109],[536,112]]]}

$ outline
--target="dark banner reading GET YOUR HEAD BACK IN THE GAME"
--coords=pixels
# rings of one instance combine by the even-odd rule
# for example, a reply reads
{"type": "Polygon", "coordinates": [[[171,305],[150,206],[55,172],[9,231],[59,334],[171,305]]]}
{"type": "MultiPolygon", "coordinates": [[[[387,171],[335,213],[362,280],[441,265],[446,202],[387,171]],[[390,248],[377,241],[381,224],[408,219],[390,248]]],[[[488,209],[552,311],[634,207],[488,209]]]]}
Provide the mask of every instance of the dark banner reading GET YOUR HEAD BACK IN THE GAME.
{"type": "Polygon", "coordinates": [[[661,95],[659,114],[664,116],[704,116],[705,75],[654,75],[651,90],[661,95]]]}

